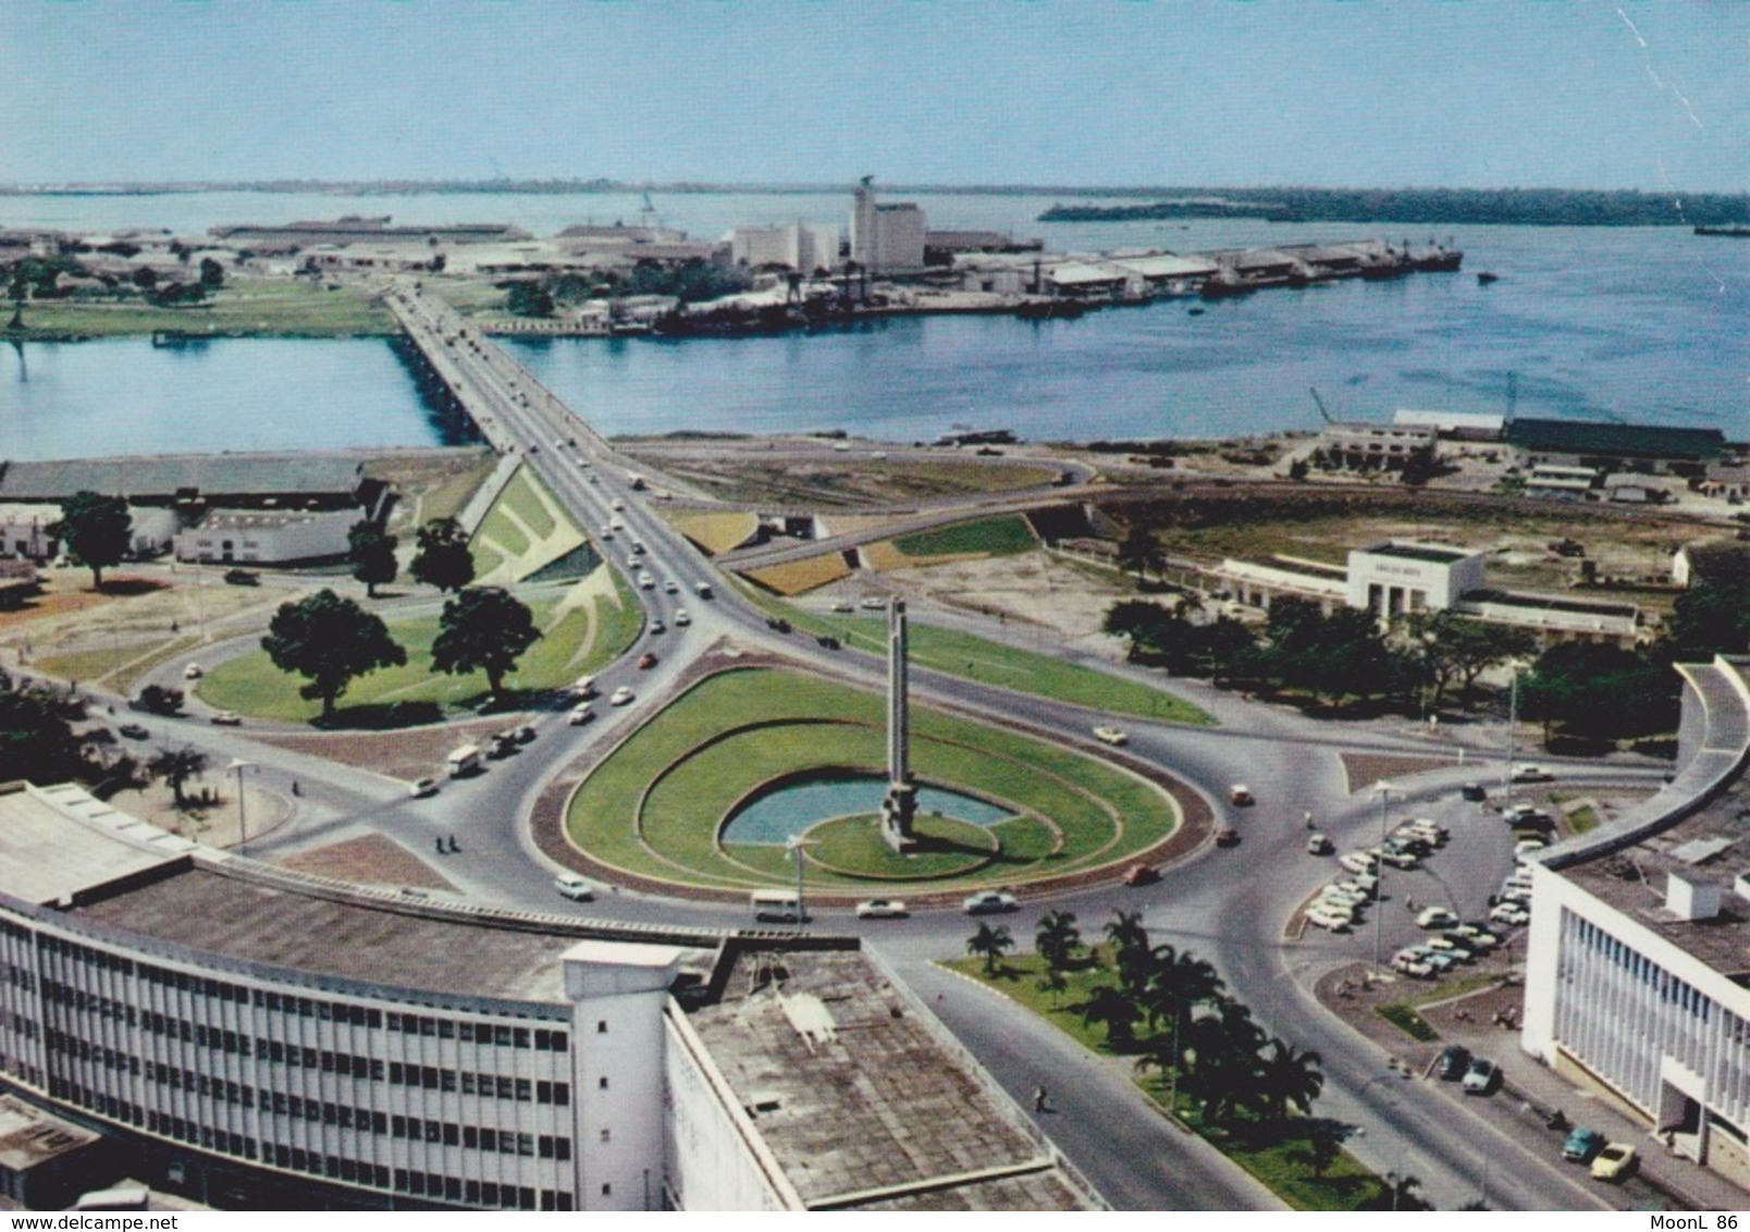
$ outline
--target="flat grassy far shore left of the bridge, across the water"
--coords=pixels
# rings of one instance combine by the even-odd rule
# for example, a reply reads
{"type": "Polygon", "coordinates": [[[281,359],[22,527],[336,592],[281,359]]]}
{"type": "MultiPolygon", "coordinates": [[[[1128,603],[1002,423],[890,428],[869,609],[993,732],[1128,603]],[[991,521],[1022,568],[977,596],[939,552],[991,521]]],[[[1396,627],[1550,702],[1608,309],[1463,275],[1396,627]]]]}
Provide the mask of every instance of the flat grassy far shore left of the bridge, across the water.
{"type": "Polygon", "coordinates": [[[33,299],[24,304],[21,336],[103,338],[156,329],[308,338],[399,332],[388,312],[360,287],[324,290],[310,278],[231,278],[206,304],[194,308],[156,308],[140,299],[33,299]]]}

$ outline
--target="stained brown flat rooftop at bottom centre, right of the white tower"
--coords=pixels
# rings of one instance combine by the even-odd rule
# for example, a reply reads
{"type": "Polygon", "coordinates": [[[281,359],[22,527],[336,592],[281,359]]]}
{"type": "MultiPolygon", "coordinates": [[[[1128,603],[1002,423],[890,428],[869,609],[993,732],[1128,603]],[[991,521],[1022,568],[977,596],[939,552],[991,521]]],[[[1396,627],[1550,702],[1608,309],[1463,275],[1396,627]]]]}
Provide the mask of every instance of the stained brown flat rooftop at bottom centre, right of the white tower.
{"type": "Polygon", "coordinates": [[[688,1022],[807,1206],[1090,1206],[864,954],[744,952],[724,987],[688,1022]]]}

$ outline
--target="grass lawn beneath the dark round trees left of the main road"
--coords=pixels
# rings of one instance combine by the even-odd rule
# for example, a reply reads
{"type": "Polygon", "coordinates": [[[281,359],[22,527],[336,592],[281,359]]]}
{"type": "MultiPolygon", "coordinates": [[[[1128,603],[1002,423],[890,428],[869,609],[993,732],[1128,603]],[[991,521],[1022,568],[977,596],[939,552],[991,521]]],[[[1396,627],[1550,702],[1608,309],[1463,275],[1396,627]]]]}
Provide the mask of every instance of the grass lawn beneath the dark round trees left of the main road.
{"type": "MultiPolygon", "coordinates": [[[[530,602],[536,628],[542,630],[542,637],[523,654],[516,670],[504,677],[506,688],[513,693],[562,688],[623,653],[632,644],[639,621],[635,616],[626,616],[634,609],[632,597],[618,586],[616,593],[620,607],[606,595],[590,600],[597,632],[588,646],[584,646],[592,623],[588,609],[572,607],[560,612],[562,592],[550,592],[530,602]]],[[[408,662],[354,681],[336,704],[343,721],[348,710],[362,718],[397,702],[408,709],[406,721],[430,721],[441,718],[444,710],[464,709],[486,693],[485,672],[448,676],[430,670],[430,644],[438,635],[436,614],[392,620],[388,635],[408,649],[408,662]]],[[[298,690],[303,684],[304,677],[276,668],[266,651],[250,651],[214,667],[196,693],[208,705],[224,710],[306,723],[322,712],[322,704],[301,698],[298,690]]]]}

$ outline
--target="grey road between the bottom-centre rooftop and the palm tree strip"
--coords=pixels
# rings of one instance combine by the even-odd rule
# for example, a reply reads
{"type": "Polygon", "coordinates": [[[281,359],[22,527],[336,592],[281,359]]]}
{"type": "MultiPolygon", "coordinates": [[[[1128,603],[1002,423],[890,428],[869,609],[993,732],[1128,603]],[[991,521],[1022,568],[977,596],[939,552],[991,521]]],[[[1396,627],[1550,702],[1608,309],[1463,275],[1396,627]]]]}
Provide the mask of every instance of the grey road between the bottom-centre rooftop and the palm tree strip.
{"type": "Polygon", "coordinates": [[[1046,1088],[1040,1127],[1120,1211],[1283,1209],[1202,1139],[1176,1129],[1136,1088],[1127,1062],[1106,1062],[1008,998],[940,968],[896,973],[1022,1108],[1046,1088]]]}

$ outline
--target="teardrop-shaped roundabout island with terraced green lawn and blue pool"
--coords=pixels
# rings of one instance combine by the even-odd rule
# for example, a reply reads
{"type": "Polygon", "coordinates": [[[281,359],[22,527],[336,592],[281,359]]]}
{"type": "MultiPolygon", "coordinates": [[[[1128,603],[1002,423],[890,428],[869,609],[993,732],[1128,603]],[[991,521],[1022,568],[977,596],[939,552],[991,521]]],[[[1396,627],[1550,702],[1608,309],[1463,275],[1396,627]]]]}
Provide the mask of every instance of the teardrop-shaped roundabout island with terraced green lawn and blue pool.
{"type": "Polygon", "coordinates": [[[724,894],[793,884],[786,840],[802,836],[808,894],[844,900],[1085,875],[1181,824],[1164,788],[1111,761],[914,705],[924,844],[896,856],[875,817],[884,721],[880,695],[845,684],[779,668],[710,676],[590,772],[567,836],[607,877],[724,894]],[[791,789],[824,794],[756,816],[791,789]]]}

